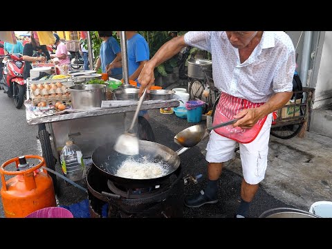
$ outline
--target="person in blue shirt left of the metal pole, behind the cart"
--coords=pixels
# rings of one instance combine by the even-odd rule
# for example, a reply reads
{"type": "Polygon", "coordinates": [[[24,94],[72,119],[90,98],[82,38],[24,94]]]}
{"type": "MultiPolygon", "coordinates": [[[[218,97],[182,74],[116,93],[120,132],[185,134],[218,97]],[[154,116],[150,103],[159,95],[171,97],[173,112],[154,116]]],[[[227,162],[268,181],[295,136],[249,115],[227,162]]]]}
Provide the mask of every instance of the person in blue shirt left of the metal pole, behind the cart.
{"type": "Polygon", "coordinates": [[[103,42],[100,46],[100,56],[95,64],[95,71],[101,66],[102,73],[108,73],[109,77],[121,80],[122,68],[115,66],[116,62],[121,61],[121,48],[116,39],[112,37],[112,33],[113,31],[98,31],[103,42]]]}

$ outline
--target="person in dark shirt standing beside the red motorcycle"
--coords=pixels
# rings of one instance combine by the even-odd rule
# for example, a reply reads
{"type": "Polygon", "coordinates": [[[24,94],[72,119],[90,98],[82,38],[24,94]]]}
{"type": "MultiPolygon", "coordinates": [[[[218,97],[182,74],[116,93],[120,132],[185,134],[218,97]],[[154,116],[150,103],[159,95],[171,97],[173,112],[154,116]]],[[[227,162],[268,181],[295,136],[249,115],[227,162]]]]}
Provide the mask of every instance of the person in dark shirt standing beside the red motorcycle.
{"type": "Polygon", "coordinates": [[[40,45],[36,31],[31,31],[31,42],[27,43],[23,49],[23,59],[25,62],[23,77],[26,80],[30,77],[30,69],[33,63],[47,62],[50,59],[50,53],[46,45],[40,45]]]}

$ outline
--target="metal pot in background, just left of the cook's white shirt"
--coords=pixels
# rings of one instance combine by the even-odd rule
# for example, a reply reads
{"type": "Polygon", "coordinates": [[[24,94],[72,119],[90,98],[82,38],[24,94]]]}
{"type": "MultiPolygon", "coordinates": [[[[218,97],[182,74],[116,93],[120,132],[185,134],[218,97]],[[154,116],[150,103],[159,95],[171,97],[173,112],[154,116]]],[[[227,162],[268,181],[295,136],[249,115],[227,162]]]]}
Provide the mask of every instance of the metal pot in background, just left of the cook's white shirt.
{"type": "Polygon", "coordinates": [[[206,77],[203,70],[208,77],[212,78],[212,61],[209,59],[190,59],[188,61],[188,77],[204,80],[206,77]]]}

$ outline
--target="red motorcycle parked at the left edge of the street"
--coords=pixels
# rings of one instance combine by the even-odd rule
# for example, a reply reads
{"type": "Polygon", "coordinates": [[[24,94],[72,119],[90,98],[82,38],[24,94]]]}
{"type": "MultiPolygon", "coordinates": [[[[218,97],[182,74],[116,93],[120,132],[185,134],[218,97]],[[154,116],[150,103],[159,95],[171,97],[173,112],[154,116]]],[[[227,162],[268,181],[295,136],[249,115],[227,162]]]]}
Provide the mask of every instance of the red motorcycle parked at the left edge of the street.
{"type": "Polygon", "coordinates": [[[26,95],[26,82],[23,78],[24,60],[18,53],[1,55],[3,58],[3,75],[1,86],[9,98],[14,98],[15,107],[20,109],[26,95]]]}

